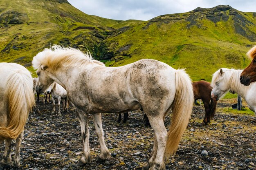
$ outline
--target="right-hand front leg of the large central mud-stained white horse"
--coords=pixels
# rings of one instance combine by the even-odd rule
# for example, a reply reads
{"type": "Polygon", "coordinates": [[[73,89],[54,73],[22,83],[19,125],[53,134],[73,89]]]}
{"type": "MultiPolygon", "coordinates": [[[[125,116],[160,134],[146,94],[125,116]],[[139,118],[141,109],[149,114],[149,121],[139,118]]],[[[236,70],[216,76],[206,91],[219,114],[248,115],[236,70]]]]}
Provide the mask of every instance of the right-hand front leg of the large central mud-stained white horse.
{"type": "Polygon", "coordinates": [[[94,122],[96,135],[99,139],[99,145],[101,146],[101,153],[97,158],[97,162],[102,162],[110,157],[110,153],[109,153],[108,148],[104,142],[104,136],[103,136],[104,132],[102,129],[101,113],[92,114],[92,119],[94,122]]]}

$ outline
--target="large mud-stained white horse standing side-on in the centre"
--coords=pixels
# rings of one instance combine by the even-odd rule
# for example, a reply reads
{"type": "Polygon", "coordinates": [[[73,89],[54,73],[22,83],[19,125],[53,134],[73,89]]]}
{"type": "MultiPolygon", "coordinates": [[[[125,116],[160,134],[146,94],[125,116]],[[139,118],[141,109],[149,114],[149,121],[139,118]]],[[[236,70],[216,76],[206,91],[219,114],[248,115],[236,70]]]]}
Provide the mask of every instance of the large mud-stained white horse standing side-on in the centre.
{"type": "Polygon", "coordinates": [[[79,50],[54,45],[32,61],[46,89],[54,81],[63,86],[76,108],[81,124],[83,155],[78,165],[91,162],[88,114],[92,114],[101,153],[97,161],[110,157],[103,138],[101,113],[125,113],[143,109],[155,132],[154,147],[144,170],[164,170],[164,156],[175,154],[193,108],[191,79],[184,70],[144,59],[120,67],[106,67],[79,50]],[[170,130],[164,126],[173,110],[170,130]]]}

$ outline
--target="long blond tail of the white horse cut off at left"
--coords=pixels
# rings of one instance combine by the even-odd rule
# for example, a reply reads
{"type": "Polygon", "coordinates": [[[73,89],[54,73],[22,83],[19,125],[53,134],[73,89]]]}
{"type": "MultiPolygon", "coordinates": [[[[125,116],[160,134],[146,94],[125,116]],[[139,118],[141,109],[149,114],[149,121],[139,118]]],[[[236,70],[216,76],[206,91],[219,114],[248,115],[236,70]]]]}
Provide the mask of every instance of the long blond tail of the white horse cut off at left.
{"type": "Polygon", "coordinates": [[[7,127],[0,126],[0,136],[16,139],[24,131],[29,112],[35,105],[32,77],[28,71],[14,71],[7,78],[6,86],[8,123],[7,127]]]}

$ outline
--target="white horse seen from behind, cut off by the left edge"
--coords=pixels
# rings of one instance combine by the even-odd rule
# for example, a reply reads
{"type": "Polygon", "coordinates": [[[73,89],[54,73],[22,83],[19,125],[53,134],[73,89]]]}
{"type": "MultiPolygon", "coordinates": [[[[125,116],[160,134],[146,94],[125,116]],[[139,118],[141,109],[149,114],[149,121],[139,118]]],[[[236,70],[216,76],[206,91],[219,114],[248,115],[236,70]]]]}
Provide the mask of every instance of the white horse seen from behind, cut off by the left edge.
{"type": "Polygon", "coordinates": [[[1,165],[20,166],[20,144],[29,112],[35,104],[29,71],[15,63],[0,63],[0,142],[5,139],[1,165]],[[11,160],[11,142],[16,150],[11,160]]]}

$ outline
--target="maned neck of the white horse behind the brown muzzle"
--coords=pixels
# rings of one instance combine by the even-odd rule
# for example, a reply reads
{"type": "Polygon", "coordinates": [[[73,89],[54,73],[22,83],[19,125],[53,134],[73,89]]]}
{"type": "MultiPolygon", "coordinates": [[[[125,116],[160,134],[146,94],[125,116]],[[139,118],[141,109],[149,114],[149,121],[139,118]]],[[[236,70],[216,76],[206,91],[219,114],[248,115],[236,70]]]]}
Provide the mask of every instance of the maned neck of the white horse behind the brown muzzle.
{"type": "Polygon", "coordinates": [[[242,73],[241,70],[232,70],[231,75],[229,78],[229,88],[231,91],[236,92],[238,95],[244,97],[247,90],[248,86],[244,86],[243,84],[240,83],[240,74],[242,73]]]}

